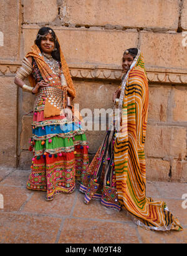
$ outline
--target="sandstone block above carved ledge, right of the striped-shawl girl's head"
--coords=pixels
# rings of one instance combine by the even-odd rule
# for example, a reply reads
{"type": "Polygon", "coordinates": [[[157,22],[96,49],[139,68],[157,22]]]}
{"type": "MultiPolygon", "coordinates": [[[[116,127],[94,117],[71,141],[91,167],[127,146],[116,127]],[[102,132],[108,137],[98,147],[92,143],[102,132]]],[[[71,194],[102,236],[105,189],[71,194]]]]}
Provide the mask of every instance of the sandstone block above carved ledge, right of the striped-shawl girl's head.
{"type": "Polygon", "coordinates": [[[145,64],[185,69],[187,51],[182,46],[182,40],[182,33],[140,32],[140,50],[145,57],[145,64]]]}

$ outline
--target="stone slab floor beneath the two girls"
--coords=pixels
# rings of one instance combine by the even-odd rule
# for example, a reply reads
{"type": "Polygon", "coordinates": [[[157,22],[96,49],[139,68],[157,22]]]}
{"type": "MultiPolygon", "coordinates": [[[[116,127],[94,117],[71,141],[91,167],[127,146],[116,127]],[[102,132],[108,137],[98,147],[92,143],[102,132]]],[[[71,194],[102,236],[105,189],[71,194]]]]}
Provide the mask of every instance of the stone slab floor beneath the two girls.
{"type": "Polygon", "coordinates": [[[187,194],[187,184],[147,182],[146,194],[165,200],[184,228],[181,232],[155,232],[138,227],[123,210],[107,209],[98,200],[85,205],[78,184],[73,194],[59,194],[47,202],[45,192],[26,189],[29,172],[0,169],[0,194],[4,199],[0,243],[187,243],[187,209],[182,207],[181,199],[187,194]]]}

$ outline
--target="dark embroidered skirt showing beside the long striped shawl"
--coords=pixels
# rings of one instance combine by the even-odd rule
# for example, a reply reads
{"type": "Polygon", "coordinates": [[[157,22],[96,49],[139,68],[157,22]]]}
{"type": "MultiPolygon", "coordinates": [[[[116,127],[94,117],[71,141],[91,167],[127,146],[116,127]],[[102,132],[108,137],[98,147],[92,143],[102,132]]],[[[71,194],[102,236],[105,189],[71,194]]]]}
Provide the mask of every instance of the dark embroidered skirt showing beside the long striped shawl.
{"type": "Polygon", "coordinates": [[[113,162],[114,131],[108,131],[89,167],[82,172],[80,192],[85,193],[85,204],[91,199],[102,205],[120,210],[113,162]]]}

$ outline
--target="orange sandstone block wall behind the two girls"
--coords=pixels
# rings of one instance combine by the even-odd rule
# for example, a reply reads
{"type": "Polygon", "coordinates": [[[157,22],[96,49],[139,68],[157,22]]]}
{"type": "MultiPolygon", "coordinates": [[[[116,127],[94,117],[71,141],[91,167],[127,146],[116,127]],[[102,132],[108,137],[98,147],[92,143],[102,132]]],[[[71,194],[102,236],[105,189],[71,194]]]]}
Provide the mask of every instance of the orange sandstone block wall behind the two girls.
{"type": "MultiPolygon", "coordinates": [[[[37,30],[50,26],[60,39],[80,109],[112,108],[123,51],[141,49],[150,94],[147,179],[187,182],[187,0],[8,0],[0,7],[2,165],[31,164],[27,113],[34,96],[13,80],[37,30]]],[[[92,159],[105,132],[86,134],[92,159]]]]}

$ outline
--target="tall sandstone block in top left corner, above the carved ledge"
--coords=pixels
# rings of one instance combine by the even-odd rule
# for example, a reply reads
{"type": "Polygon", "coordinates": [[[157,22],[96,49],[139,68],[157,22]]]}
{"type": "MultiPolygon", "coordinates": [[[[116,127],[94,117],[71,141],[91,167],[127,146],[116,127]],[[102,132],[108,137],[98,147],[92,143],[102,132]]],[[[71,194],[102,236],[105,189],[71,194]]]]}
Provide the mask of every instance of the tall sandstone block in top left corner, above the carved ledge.
{"type": "Polygon", "coordinates": [[[3,45],[0,46],[0,60],[19,59],[21,32],[19,1],[7,0],[0,2],[0,24],[0,31],[4,37],[3,45]]]}

